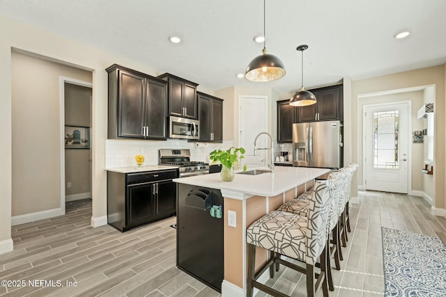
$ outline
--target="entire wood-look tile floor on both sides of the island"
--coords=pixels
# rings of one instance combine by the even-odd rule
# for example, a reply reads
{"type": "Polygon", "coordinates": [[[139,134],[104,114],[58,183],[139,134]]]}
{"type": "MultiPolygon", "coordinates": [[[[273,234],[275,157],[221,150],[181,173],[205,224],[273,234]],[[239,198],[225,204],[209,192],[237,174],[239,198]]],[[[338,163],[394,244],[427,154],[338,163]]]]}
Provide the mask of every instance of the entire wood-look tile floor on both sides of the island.
{"type": "MultiPolygon", "coordinates": [[[[446,219],[432,216],[422,198],[371,191],[359,197],[359,204],[351,204],[352,232],[330,296],[383,296],[381,226],[446,241],[446,219]]],[[[170,227],[176,218],[121,233],[109,225],[90,226],[90,200],[68,203],[66,213],[13,226],[15,248],[0,255],[0,280],[26,285],[0,286],[0,296],[220,296],[176,268],[176,234],[170,227]],[[33,287],[28,280],[36,281],[33,287]]],[[[305,296],[305,277],[288,268],[268,283],[305,296]]]]}

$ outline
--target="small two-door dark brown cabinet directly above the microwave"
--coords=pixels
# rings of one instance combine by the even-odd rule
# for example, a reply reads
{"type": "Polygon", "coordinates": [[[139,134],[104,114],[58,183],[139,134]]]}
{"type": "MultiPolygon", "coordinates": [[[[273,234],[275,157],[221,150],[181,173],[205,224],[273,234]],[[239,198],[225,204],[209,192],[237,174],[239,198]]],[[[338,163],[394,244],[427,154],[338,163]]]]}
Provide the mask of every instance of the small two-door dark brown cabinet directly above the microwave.
{"type": "Polygon", "coordinates": [[[169,115],[197,120],[198,83],[169,73],[161,74],[158,78],[169,82],[169,115]]]}

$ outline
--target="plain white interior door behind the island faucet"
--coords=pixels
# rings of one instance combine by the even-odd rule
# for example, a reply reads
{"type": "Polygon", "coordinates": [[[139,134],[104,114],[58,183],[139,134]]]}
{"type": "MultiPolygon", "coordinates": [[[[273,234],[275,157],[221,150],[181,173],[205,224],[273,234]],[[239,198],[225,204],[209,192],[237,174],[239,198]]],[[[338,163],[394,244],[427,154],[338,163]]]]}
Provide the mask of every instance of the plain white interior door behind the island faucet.
{"type": "MultiPolygon", "coordinates": [[[[266,106],[268,97],[266,96],[239,96],[240,106],[239,117],[239,138],[238,143],[240,147],[244,147],[245,159],[243,164],[248,168],[266,166],[270,151],[258,151],[257,156],[254,156],[254,138],[260,133],[268,131],[268,113],[266,106]]],[[[268,147],[270,141],[267,135],[259,137],[256,147],[268,147]]]]}

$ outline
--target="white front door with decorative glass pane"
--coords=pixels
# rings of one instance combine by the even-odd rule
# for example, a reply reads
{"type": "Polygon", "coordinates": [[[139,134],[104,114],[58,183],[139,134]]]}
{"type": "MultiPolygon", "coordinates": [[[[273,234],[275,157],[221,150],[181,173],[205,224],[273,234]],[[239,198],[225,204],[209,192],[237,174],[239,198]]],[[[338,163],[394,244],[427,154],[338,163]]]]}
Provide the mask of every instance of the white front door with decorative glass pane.
{"type": "Polygon", "coordinates": [[[364,106],[366,190],[408,193],[408,103],[364,106]]]}

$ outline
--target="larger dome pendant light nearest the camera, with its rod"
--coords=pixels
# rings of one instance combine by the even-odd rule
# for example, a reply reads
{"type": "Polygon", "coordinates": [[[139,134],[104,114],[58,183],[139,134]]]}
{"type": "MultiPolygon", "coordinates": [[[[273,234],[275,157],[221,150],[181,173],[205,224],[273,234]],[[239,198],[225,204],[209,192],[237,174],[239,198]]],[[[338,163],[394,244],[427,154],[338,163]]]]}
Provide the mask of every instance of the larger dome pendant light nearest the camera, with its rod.
{"type": "MultiPolygon", "coordinates": [[[[266,0],[263,0],[263,36],[265,36],[265,10],[266,0]]],[[[275,81],[285,75],[284,63],[272,54],[266,53],[266,42],[263,40],[263,50],[260,56],[256,56],[248,67],[246,67],[245,77],[249,81],[275,81]]]]}

